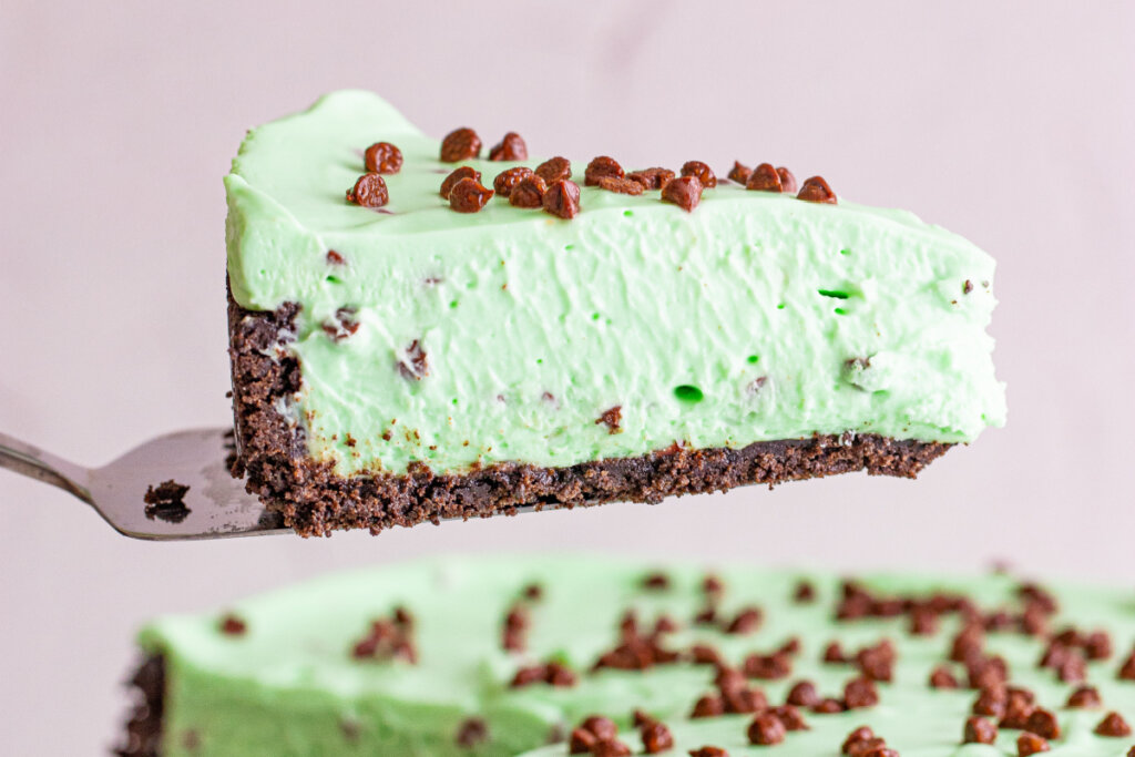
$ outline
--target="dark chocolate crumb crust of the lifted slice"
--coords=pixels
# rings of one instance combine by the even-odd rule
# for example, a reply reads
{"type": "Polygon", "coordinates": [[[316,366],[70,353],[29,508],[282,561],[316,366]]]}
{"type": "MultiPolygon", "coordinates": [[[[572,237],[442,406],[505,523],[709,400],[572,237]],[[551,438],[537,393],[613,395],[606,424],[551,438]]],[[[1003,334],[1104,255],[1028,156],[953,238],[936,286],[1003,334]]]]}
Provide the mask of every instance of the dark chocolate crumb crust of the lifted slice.
{"type": "Polygon", "coordinates": [[[513,515],[520,508],[575,507],[608,502],[658,503],[671,495],[724,491],[747,483],[792,481],[866,470],[914,478],[950,444],[876,435],[814,436],[758,441],[740,449],[674,445],[640,457],[539,468],[499,463],[463,474],[435,474],[423,464],[405,476],[336,476],[308,457],[303,430],[276,403],[299,390],[300,365],[284,348],[294,338],[299,305],[254,312],[229,294],[229,354],[236,421],[235,476],[301,536],[337,529],[438,523],[449,518],[513,515]]]}

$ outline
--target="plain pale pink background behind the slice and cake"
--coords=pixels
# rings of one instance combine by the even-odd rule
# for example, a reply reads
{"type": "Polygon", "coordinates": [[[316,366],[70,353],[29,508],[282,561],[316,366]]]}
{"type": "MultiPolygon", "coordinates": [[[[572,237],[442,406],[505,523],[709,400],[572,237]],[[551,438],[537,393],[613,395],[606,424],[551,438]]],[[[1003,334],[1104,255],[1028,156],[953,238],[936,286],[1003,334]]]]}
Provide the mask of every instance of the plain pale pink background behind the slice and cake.
{"type": "Polygon", "coordinates": [[[132,633],[154,613],[414,555],[1008,557],[1135,578],[1135,5],[0,5],[3,431],[101,463],[227,422],[220,177],[246,127],[343,86],[435,134],[518,129],[533,152],[775,160],[970,237],[999,260],[1010,424],[917,483],[842,478],[377,539],[134,542],[0,471],[0,751],[103,749],[132,633]]]}

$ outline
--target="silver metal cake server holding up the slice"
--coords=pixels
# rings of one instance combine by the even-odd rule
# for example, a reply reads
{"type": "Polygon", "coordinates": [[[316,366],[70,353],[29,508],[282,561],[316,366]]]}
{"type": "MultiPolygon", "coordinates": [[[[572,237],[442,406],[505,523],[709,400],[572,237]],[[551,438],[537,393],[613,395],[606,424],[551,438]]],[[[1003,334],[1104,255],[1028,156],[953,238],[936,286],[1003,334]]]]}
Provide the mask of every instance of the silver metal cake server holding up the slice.
{"type": "Polygon", "coordinates": [[[169,541],[293,532],[233,478],[226,464],[232,453],[232,429],[195,429],[86,469],[0,434],[0,468],[78,497],[124,536],[169,541]],[[174,486],[161,486],[170,480],[174,486]]]}

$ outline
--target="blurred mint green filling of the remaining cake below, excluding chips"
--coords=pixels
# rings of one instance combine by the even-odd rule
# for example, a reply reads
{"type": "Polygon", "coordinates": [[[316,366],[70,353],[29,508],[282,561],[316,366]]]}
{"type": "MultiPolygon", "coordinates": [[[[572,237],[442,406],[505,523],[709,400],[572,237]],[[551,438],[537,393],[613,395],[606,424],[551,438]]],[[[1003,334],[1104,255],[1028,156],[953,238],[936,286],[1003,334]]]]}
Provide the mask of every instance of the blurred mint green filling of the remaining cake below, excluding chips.
{"type": "MultiPolygon", "coordinates": [[[[816,600],[798,604],[792,596],[800,573],[724,566],[714,570],[725,584],[721,614],[730,616],[753,604],[764,611],[756,632],[725,634],[691,622],[705,604],[701,566],[666,565],[670,588],[647,590],[642,579],[655,570],[596,556],[449,558],[327,577],[236,603],[226,612],[245,621],[243,636],[219,631],[220,612],[160,619],[142,632],[141,645],[165,655],[167,664],[162,754],[510,756],[538,749],[549,732],[570,729],[590,714],[616,720],[623,740],[641,754],[629,722],[636,707],[671,727],[679,748],[667,754],[684,755],[704,745],[724,747],[733,757],[765,754],[746,746],[751,716],[687,720],[693,703],[714,689],[712,666],[680,663],[646,672],[588,672],[616,642],[620,619],[629,608],[644,624],[662,613],[676,621],[680,628],[666,636],[667,648],[709,644],[734,665],[754,651],[767,654],[799,638],[801,648],[789,678],[753,681],[774,705],[800,679],[815,682],[823,695],[840,696],[856,672],[850,665],[821,664],[829,642],[839,641],[847,651],[882,638],[896,644],[894,681],[878,684],[878,705],[836,715],[806,712],[810,731],[789,733],[772,754],[834,757],[844,735],[861,724],[903,757],[1016,754],[1018,732],[1007,729],[997,747],[960,746],[976,692],[927,685],[931,670],[945,658],[957,617],[945,616],[939,631],[926,637],[909,634],[905,616],[836,623],[836,577],[805,575],[815,586],[816,600]],[[502,621],[533,581],[544,591],[530,605],[528,650],[506,653],[501,647],[502,621]],[[351,649],[370,622],[397,606],[414,617],[419,662],[354,659],[351,649]],[[550,658],[578,671],[578,684],[508,687],[521,666],[550,658]],[[488,740],[472,750],[455,742],[470,717],[481,718],[488,732],[488,740]]],[[[885,596],[959,591],[985,611],[1019,609],[1018,582],[1008,575],[882,575],[867,577],[864,583],[885,596]]],[[[1092,730],[1112,709],[1135,722],[1135,682],[1116,676],[1135,640],[1135,602],[1129,590],[1045,588],[1060,605],[1054,630],[1075,623],[1084,631],[1111,634],[1111,657],[1087,665],[1088,681],[1099,688],[1104,708],[1063,708],[1074,685],[1036,666],[1044,647],[1040,639],[990,632],[986,651],[1003,656],[1011,682],[1033,690],[1037,704],[1057,714],[1063,734],[1052,742],[1053,757],[1120,757],[1135,738],[1107,739],[1092,730]]],[[[964,680],[964,671],[955,671],[964,680]]],[[[558,745],[535,754],[566,752],[558,745]]]]}

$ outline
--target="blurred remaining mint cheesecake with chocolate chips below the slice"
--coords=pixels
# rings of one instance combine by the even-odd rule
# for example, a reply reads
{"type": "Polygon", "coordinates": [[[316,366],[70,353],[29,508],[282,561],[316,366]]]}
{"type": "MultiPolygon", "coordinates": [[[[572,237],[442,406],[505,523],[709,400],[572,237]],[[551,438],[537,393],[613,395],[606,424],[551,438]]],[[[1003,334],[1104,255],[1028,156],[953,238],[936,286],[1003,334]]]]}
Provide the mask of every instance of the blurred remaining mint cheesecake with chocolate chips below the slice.
{"type": "Polygon", "coordinates": [[[451,558],[154,621],[123,754],[1118,757],[1133,642],[1129,591],[1003,573],[451,558]]]}

